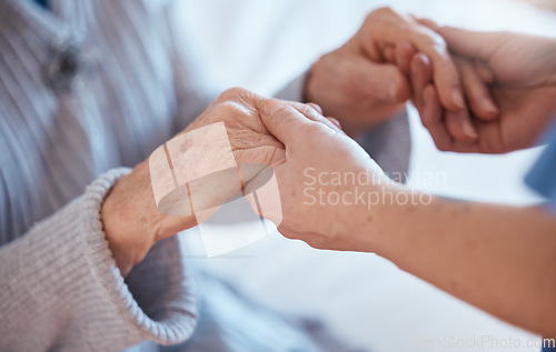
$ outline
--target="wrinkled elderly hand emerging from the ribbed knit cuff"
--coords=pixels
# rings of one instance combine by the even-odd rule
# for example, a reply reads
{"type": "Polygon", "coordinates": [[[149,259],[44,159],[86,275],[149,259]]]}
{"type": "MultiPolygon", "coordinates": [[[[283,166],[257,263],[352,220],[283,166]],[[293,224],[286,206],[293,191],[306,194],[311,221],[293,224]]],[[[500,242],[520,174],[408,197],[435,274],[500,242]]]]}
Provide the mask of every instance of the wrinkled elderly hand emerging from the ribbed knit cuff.
{"type": "MultiPolygon", "coordinates": [[[[257,105],[266,99],[242,89],[224,92],[185,131],[190,132],[216,122],[224,122],[236,163],[270,164],[284,158],[284,145],[260,121],[257,105]]],[[[299,109],[312,108],[295,104],[299,109]]],[[[199,141],[210,143],[210,141],[199,141]]],[[[218,155],[205,155],[218,160],[218,155]]],[[[190,168],[197,165],[190,164],[190,168]]],[[[244,180],[249,181],[249,180],[244,180]]],[[[239,189],[237,191],[240,191],[239,189]]],[[[122,274],[140,262],[155,242],[178,231],[195,227],[195,214],[167,215],[158,211],[151,188],[149,160],[120,179],[101,209],[107,240],[122,274]]]]}

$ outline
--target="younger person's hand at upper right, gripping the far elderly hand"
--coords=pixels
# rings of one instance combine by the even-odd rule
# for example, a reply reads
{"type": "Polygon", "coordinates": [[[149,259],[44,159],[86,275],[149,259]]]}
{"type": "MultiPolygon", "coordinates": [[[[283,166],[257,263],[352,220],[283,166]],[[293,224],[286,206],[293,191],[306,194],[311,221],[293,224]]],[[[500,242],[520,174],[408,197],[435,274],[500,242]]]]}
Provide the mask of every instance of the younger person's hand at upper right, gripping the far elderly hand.
{"type": "MultiPolygon", "coordinates": [[[[499,109],[496,119],[473,117],[478,138],[461,143],[427,78],[426,60],[413,62],[414,101],[424,125],[440,150],[505,153],[533,147],[556,113],[556,40],[510,32],[475,32],[421,21],[440,33],[455,53],[466,95],[485,92],[499,109]]],[[[473,108],[473,103],[471,103],[473,108]]],[[[473,109],[471,109],[473,110],[473,109]]]]}

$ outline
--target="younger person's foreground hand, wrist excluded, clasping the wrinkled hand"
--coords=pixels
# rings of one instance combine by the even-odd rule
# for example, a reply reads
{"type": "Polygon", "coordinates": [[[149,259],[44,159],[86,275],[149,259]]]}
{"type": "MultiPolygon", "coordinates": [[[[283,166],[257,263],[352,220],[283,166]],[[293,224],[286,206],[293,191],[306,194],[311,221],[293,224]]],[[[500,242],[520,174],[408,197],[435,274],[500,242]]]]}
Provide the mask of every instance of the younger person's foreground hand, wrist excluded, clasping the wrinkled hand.
{"type": "MultiPolygon", "coordinates": [[[[265,190],[258,191],[258,202],[265,208],[260,215],[279,223],[285,237],[315,248],[374,251],[371,237],[356,234],[381,208],[374,207],[363,219],[354,219],[354,211],[361,205],[367,209],[367,194],[379,203],[375,197],[381,198],[385,189],[394,191],[395,182],[320,113],[278,100],[265,102],[260,113],[266,128],[286,145],[285,158],[271,165],[279,195],[265,197],[265,190]],[[358,199],[363,188],[371,190],[358,199]]],[[[251,203],[257,211],[255,200],[251,203]]]]}

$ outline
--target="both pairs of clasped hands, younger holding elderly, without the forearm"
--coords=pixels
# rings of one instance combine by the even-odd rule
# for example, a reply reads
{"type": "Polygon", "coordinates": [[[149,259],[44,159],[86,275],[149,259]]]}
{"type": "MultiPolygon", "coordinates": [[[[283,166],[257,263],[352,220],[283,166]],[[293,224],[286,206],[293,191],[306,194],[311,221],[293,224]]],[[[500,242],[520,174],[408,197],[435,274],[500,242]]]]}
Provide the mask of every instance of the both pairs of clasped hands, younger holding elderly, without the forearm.
{"type": "MultiPolygon", "coordinates": [[[[238,165],[272,168],[281,207],[278,229],[286,237],[316,248],[376,251],[388,229],[375,220],[391,217],[388,204],[368,211],[341,202],[309,203],[305,171],[371,174],[375,182],[365,185],[368,192],[380,195],[386,188],[394,194],[410,193],[384,175],[348,137],[387,120],[408,99],[441,150],[499,153],[530,147],[556,108],[554,48],[550,39],[440,28],[379,9],[345,46],[314,64],[305,95],[315,103],[231,89],[183,133],[224,122],[238,165]],[[553,67],[548,76],[547,66],[553,67]],[[369,223],[373,235],[358,235],[369,223]]],[[[322,191],[341,194],[353,187],[327,183],[322,191]]],[[[252,208],[258,211],[256,204],[252,208]]],[[[275,221],[277,217],[261,215],[275,221]]],[[[158,211],[148,161],[116,183],[101,218],[122,273],[155,242],[198,223],[195,215],[158,211]]]]}

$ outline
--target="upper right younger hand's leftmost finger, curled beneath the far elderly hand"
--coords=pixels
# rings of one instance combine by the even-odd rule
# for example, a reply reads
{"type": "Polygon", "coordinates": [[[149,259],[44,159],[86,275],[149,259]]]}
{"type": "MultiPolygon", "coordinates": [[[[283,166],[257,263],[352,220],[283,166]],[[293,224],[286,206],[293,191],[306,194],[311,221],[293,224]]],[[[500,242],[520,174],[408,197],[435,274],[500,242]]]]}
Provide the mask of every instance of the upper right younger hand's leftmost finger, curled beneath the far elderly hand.
{"type": "Polygon", "coordinates": [[[443,108],[436,89],[428,84],[424,92],[424,103],[419,109],[423,125],[428,130],[439,150],[447,150],[451,147],[453,140],[443,120],[443,108]]]}

